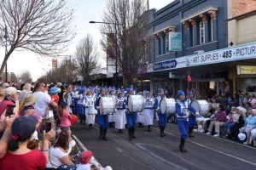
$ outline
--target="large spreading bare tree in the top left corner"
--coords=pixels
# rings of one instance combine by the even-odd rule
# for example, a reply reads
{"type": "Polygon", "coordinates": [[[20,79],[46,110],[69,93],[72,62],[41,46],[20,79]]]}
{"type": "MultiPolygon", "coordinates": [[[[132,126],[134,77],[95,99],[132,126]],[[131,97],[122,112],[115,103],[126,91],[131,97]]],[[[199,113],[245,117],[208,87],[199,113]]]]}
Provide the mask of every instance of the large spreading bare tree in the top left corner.
{"type": "Polygon", "coordinates": [[[75,36],[66,0],[3,0],[0,13],[0,45],[6,49],[0,73],[15,50],[59,54],[75,36]]]}

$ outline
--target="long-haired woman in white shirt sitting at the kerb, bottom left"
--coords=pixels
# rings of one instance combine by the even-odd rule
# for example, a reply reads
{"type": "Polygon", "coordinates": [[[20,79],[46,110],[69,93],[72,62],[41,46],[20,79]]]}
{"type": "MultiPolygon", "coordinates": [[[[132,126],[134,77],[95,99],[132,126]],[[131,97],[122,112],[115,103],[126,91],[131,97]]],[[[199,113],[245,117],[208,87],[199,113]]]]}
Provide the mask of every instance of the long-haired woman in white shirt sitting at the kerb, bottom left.
{"type": "Polygon", "coordinates": [[[68,141],[69,137],[67,133],[61,132],[55,144],[49,149],[49,160],[47,161],[46,169],[54,169],[61,165],[73,165],[67,154],[68,141]]]}

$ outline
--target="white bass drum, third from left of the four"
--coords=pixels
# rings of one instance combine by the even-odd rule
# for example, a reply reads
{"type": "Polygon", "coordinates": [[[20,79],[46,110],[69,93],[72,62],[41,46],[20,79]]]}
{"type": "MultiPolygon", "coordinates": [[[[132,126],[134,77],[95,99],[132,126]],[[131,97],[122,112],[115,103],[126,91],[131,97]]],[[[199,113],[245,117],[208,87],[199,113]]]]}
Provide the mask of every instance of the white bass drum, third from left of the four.
{"type": "Polygon", "coordinates": [[[175,114],[175,99],[163,98],[160,100],[160,111],[162,114],[175,114]]]}

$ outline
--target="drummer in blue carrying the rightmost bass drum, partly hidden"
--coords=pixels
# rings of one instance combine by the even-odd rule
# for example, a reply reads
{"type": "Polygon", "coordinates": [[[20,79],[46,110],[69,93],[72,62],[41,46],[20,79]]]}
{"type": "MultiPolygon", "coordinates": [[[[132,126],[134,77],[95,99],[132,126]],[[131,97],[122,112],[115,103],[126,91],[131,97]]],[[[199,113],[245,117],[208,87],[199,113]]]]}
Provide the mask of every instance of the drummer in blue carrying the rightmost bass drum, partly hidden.
{"type": "MultiPolygon", "coordinates": [[[[189,105],[192,104],[192,102],[195,100],[194,99],[194,95],[193,95],[193,92],[191,90],[189,90],[189,93],[188,93],[188,99],[187,99],[187,102],[189,105]]],[[[193,129],[195,127],[195,114],[193,112],[190,112],[189,114],[189,132],[188,132],[188,135],[189,135],[189,138],[194,138],[195,136],[192,134],[193,133],[193,129]]]]}

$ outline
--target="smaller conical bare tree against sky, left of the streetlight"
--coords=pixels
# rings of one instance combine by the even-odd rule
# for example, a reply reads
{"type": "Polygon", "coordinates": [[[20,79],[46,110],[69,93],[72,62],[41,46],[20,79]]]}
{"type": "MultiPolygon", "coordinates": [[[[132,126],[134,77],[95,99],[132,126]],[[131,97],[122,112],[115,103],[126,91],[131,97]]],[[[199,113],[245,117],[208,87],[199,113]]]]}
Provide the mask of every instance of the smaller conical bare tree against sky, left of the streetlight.
{"type": "Polygon", "coordinates": [[[84,81],[88,81],[91,75],[101,71],[96,45],[90,34],[87,34],[77,45],[74,61],[84,81]]]}

